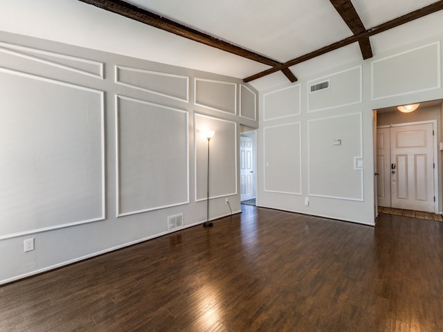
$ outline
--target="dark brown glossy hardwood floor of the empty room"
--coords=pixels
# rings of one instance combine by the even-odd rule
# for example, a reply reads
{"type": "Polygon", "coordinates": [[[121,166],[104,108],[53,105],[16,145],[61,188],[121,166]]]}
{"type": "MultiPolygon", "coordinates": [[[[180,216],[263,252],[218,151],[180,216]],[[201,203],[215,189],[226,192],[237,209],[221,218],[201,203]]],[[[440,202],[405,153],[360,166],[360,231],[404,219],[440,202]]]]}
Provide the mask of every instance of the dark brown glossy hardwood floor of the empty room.
{"type": "Polygon", "coordinates": [[[443,331],[443,223],[242,205],[0,287],[0,331],[443,331]]]}

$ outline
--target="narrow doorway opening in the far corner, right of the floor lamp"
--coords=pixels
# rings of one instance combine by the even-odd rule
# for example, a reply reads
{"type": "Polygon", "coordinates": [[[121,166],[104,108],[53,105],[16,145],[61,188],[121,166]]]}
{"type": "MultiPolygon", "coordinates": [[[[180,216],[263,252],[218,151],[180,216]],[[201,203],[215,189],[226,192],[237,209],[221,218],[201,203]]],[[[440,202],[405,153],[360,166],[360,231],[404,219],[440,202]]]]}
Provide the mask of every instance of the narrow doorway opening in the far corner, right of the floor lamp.
{"type": "Polygon", "coordinates": [[[256,131],[240,126],[240,203],[256,205],[256,131]]]}

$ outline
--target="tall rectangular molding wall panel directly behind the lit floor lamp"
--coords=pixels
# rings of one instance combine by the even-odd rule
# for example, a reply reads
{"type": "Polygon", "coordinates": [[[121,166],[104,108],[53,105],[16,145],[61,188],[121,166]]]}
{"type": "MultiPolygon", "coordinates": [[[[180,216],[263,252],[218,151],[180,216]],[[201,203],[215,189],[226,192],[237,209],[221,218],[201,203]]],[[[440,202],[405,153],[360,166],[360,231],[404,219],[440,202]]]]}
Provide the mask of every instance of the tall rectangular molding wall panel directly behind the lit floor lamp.
{"type": "Polygon", "coordinates": [[[237,194],[237,123],[194,113],[195,201],[205,201],[208,172],[208,140],[202,136],[215,131],[210,139],[209,199],[237,194]]]}

